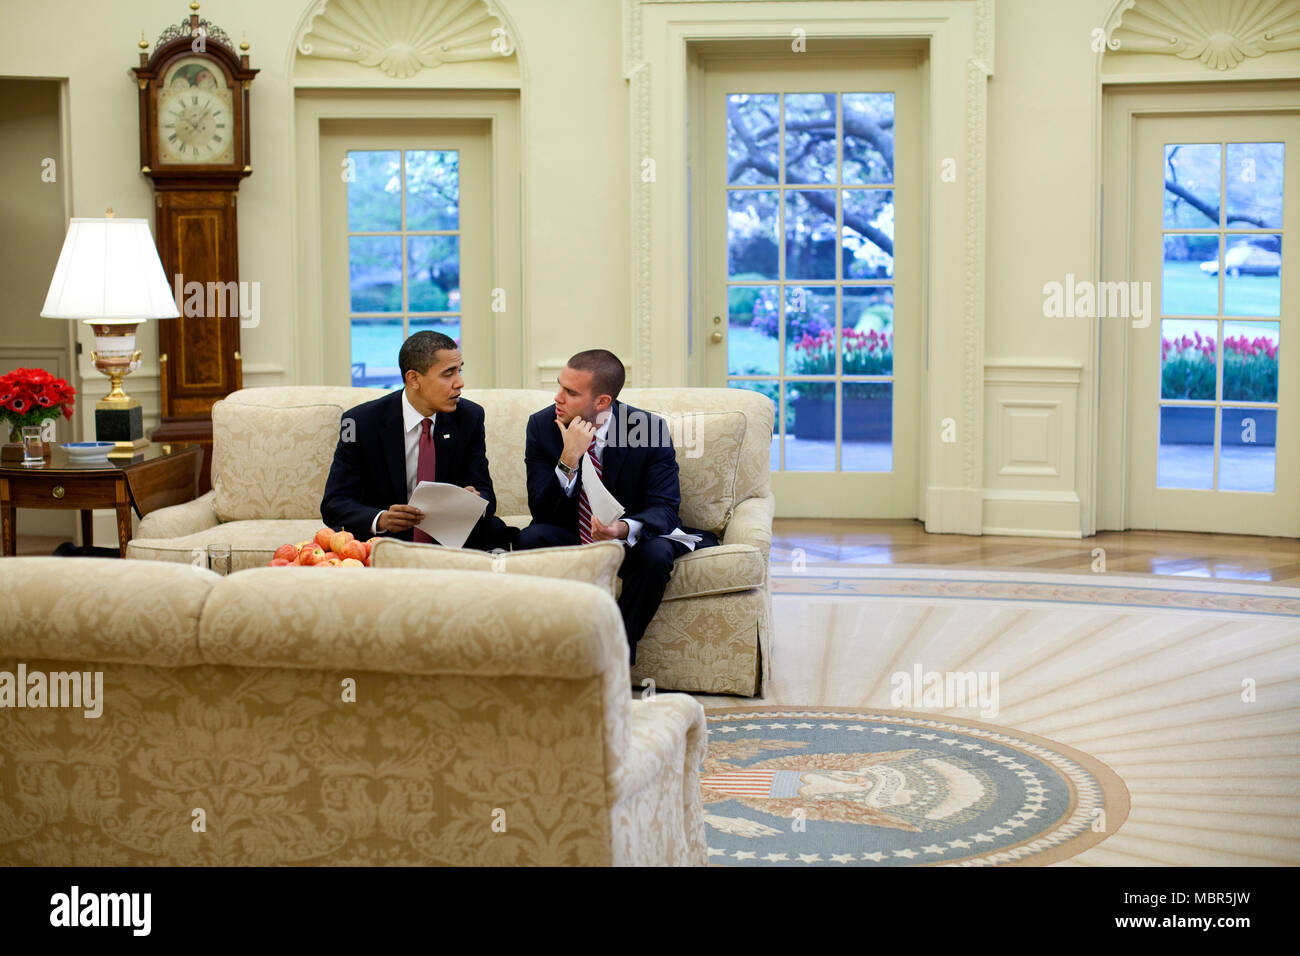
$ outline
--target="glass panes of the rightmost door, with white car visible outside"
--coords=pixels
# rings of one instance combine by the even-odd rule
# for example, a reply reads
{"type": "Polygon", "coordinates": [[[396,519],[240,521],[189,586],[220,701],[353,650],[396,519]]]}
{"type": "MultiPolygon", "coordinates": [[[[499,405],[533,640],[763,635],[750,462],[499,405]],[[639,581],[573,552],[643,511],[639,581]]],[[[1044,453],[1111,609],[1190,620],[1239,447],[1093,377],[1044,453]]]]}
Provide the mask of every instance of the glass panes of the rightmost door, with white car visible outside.
{"type": "Polygon", "coordinates": [[[1274,490],[1283,156],[1165,146],[1160,488],[1274,490]]]}

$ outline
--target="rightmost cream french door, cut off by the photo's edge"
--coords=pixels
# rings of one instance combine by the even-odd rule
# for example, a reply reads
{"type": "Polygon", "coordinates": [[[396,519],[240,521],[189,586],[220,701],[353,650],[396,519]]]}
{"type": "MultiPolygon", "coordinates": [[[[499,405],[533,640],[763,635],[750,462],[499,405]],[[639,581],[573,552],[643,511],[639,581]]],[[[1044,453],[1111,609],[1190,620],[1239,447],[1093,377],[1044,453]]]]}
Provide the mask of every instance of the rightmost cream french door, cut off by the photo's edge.
{"type": "Polygon", "coordinates": [[[1300,117],[1136,120],[1128,527],[1300,535],[1300,117]]]}

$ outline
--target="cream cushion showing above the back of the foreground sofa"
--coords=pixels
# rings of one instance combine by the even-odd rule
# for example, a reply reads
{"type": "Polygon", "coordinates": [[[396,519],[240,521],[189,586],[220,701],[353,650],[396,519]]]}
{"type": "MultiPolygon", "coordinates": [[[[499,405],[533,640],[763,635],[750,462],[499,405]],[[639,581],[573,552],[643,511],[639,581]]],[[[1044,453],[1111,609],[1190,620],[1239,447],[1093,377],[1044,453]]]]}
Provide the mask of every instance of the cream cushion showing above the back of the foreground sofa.
{"type": "Polygon", "coordinates": [[[564,578],[585,581],[616,597],[615,581],[623,563],[623,545],[597,541],[567,548],[488,554],[472,549],[443,548],[387,538],[370,553],[370,567],[422,567],[452,571],[498,571],[534,578],[564,578]]]}

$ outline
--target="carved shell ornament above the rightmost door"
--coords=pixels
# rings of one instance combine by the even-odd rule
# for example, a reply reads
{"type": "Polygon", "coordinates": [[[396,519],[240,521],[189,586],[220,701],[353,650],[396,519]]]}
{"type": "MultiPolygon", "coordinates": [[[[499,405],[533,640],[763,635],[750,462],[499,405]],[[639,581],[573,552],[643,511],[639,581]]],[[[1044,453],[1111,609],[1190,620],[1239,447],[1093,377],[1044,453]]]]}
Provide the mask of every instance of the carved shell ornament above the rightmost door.
{"type": "Polygon", "coordinates": [[[1300,0],[1124,0],[1110,49],[1173,53],[1228,70],[1247,57],[1300,49],[1300,0]]]}

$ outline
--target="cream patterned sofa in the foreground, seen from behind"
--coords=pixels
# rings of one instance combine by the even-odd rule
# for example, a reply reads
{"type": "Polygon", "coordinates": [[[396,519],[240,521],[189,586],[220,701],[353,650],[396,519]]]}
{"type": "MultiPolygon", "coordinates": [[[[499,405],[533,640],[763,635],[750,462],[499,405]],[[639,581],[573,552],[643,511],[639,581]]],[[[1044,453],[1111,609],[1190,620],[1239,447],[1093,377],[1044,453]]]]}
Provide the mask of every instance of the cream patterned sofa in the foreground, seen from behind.
{"type": "Polygon", "coordinates": [[[592,584],[0,558],[20,666],[103,692],[0,708],[0,865],[707,862],[703,709],[592,584]]]}

